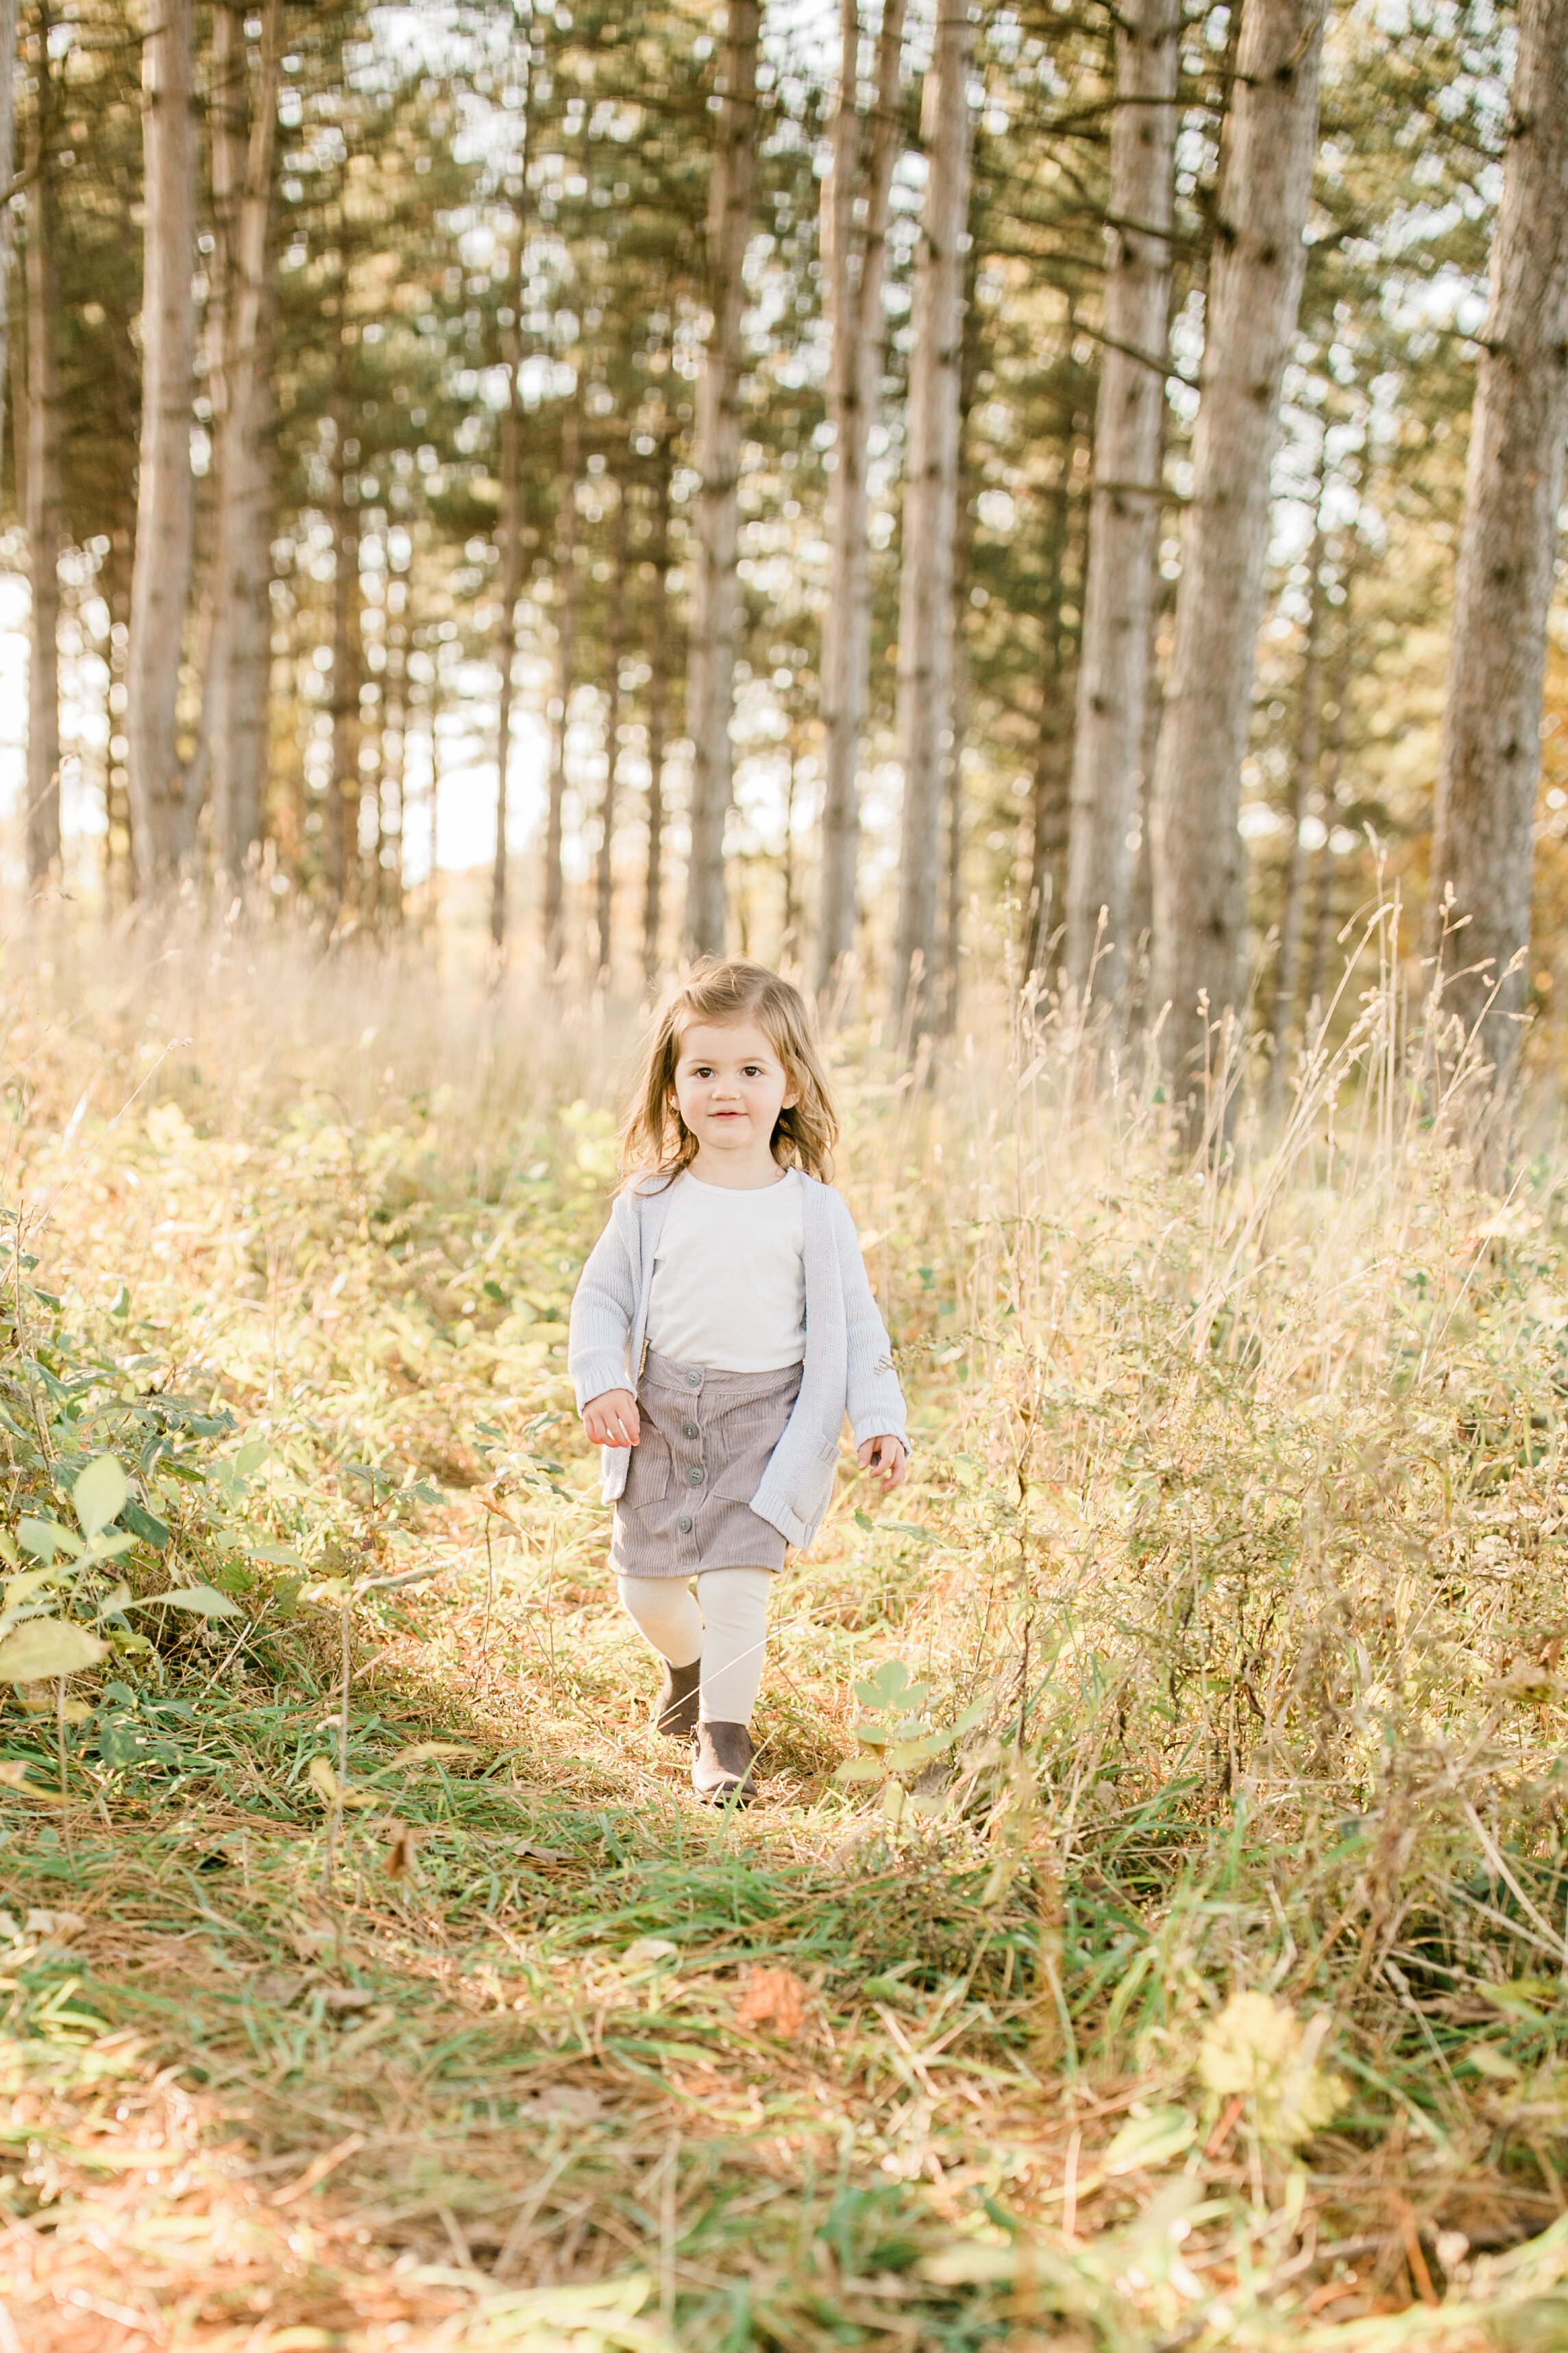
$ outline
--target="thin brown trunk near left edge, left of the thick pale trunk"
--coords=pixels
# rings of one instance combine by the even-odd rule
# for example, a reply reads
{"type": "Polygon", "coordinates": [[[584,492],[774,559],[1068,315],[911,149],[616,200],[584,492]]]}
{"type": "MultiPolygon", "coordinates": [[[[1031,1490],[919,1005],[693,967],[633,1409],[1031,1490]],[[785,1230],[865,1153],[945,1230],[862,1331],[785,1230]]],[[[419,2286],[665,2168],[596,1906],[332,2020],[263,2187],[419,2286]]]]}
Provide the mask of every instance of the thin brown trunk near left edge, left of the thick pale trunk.
{"type": "Polygon", "coordinates": [[[54,144],[54,12],[38,9],[38,96],[28,136],[28,449],[24,513],[28,527],[28,885],[59,871],[59,536],[66,489],[59,456],[59,205],[54,144]]]}

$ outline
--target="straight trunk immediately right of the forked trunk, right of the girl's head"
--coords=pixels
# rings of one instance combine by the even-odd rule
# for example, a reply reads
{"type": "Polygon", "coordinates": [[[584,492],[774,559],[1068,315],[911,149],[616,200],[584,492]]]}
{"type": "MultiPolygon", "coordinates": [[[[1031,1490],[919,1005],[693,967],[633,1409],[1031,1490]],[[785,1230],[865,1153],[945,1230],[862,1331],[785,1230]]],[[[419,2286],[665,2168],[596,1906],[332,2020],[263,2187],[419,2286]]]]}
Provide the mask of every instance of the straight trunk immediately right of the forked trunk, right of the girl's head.
{"type": "Polygon", "coordinates": [[[938,0],[922,132],[910,344],[910,426],[898,598],[898,760],[903,828],[893,1016],[929,1028],[940,960],[943,760],[952,748],[952,541],[959,487],[959,369],[964,348],[964,226],[969,219],[969,0],[938,0]]]}

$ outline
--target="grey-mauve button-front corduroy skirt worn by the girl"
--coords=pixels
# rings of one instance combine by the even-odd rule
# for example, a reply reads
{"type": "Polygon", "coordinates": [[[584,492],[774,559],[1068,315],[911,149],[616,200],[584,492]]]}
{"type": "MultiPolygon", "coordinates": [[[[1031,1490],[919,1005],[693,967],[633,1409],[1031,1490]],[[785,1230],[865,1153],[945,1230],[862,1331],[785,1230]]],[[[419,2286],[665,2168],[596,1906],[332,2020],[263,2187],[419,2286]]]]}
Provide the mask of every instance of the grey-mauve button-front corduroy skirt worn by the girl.
{"type": "Polygon", "coordinates": [[[802,1384],[785,1372],[708,1372],[649,1348],[637,1384],[642,1438],[616,1504],[616,1577],[783,1569],[785,1539],[750,1508],[802,1384]]]}

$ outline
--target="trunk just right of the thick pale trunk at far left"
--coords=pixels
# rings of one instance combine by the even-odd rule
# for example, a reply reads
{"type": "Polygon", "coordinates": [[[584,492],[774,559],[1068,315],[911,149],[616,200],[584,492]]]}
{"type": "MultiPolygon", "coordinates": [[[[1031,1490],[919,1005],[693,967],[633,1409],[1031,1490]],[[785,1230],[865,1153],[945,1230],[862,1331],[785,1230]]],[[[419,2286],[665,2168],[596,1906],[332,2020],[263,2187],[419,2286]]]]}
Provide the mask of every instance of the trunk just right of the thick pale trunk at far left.
{"type": "Polygon", "coordinates": [[[273,146],[282,0],[266,0],[256,68],[247,61],[242,0],[212,16],[212,193],[221,289],[214,402],[214,616],[207,678],[212,854],[237,878],[261,842],[273,661],[268,449],[273,322],[273,146]]]}

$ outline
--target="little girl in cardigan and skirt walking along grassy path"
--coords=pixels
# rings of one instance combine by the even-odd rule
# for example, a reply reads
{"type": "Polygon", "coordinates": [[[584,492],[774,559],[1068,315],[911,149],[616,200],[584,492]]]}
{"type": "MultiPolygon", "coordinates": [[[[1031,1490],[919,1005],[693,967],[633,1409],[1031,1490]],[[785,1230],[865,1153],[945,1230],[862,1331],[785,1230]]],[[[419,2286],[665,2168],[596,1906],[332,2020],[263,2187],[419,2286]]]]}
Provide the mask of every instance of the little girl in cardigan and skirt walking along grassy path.
{"type": "Polygon", "coordinates": [[[752,1798],[769,1579],[818,1532],[844,1412],[860,1468],[884,1489],[905,1473],[889,1337],[827,1184],[835,1141],[802,993],[762,965],[696,965],[656,1026],[628,1181],[571,1301],[611,1567],[665,1661],[654,1722],[696,1734],[708,1805],[752,1798]]]}

